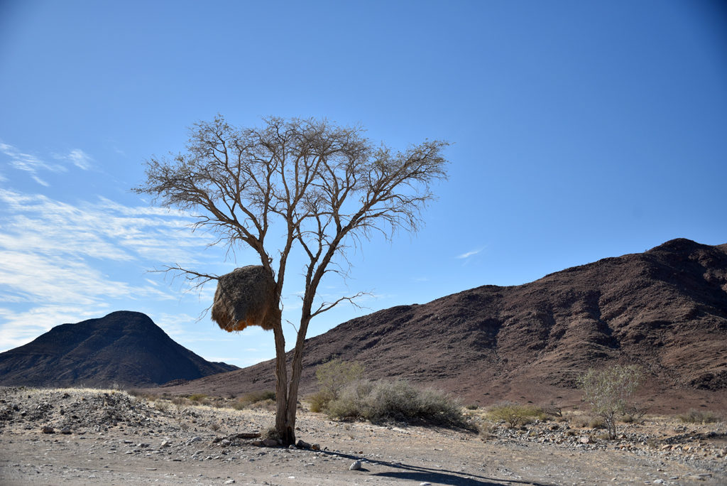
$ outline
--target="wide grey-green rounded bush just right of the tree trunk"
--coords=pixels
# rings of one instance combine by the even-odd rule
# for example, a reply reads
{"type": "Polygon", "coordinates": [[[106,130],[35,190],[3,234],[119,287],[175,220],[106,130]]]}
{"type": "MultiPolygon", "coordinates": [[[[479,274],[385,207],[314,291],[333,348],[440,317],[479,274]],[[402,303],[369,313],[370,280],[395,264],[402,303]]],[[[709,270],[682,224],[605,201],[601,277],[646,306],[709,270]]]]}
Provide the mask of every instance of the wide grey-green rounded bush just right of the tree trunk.
{"type": "Polygon", "coordinates": [[[465,426],[457,400],[433,389],[417,389],[406,381],[368,380],[350,383],[329,402],[331,418],[364,419],[373,423],[403,421],[465,426]]]}

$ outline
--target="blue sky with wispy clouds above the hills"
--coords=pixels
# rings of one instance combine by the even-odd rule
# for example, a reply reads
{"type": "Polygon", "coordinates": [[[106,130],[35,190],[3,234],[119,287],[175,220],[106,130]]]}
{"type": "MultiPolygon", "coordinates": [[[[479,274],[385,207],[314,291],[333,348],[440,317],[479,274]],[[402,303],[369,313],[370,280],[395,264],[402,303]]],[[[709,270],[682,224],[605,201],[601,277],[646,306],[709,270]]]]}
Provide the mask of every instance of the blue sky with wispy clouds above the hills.
{"type": "MultiPolygon", "coordinates": [[[[324,282],[370,291],[366,308],[309,335],[677,237],[727,242],[718,1],[0,1],[0,351],[124,309],[206,359],[274,356],[270,332],[198,320],[212,285],[148,273],[257,263],[130,191],[217,113],[453,143],[426,226],[367,242],[348,281],[324,282]]],[[[292,322],[300,285],[284,290],[292,322]]]]}

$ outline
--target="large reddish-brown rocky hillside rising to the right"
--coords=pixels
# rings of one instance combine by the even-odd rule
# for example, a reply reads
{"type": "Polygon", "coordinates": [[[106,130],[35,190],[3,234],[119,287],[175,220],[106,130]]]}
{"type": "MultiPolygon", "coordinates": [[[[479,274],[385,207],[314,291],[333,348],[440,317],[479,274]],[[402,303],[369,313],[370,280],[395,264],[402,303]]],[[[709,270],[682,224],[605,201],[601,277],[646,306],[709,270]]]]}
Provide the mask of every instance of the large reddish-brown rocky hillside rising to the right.
{"type": "MultiPolygon", "coordinates": [[[[575,397],[579,373],[614,362],[643,365],[654,394],[670,390],[668,399],[726,391],[727,244],[675,239],[528,284],[352,319],[306,341],[303,393],[333,357],[363,362],[370,378],[405,378],[482,404],[575,397]]],[[[164,390],[274,389],[273,365],[164,390]]]]}

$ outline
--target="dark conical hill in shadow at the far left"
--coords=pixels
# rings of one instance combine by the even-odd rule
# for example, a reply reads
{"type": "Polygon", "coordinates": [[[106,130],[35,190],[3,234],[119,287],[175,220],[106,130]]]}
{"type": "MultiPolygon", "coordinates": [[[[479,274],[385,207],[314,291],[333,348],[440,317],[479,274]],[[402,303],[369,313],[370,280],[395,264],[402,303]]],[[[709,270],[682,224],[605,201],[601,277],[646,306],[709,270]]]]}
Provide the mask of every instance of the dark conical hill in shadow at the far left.
{"type": "Polygon", "coordinates": [[[237,369],[202,359],[148,316],[130,311],[61,324],[0,353],[4,386],[154,386],[237,369]]]}

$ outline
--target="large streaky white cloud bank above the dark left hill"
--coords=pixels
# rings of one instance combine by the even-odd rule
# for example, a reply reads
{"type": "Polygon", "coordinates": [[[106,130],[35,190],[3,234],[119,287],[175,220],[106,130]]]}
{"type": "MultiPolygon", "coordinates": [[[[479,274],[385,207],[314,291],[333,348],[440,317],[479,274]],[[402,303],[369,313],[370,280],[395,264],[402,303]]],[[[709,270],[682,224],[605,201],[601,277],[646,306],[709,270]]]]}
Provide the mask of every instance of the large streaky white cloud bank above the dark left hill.
{"type": "Polygon", "coordinates": [[[179,299],[143,275],[159,262],[202,264],[198,249],[210,239],[188,223],[177,211],[0,189],[0,351],[57,324],[104,315],[114,302],[179,299]]]}

